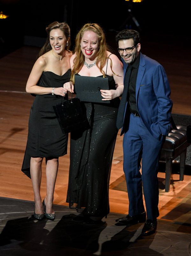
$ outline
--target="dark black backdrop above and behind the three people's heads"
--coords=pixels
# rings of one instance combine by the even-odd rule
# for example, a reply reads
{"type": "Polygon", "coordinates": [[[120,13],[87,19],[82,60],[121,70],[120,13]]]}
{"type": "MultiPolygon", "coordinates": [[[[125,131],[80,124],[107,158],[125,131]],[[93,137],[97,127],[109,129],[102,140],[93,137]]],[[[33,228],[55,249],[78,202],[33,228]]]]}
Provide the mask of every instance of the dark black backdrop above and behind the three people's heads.
{"type": "MultiPolygon", "coordinates": [[[[131,1],[130,1],[131,2],[131,1]]],[[[190,42],[190,1],[144,0],[132,3],[132,13],[141,27],[141,38],[148,42],[180,46],[180,51],[190,42]]],[[[53,21],[66,21],[71,28],[72,47],[77,31],[85,23],[98,23],[106,32],[108,44],[116,50],[117,31],[131,25],[128,18],[129,2],[114,1],[40,1],[0,0],[0,12],[9,15],[0,19],[0,54],[5,56],[24,45],[24,36],[46,38],[45,28],[53,21]]],[[[170,50],[170,48],[169,48],[170,50]]],[[[177,53],[178,55],[178,53],[177,53]]]]}

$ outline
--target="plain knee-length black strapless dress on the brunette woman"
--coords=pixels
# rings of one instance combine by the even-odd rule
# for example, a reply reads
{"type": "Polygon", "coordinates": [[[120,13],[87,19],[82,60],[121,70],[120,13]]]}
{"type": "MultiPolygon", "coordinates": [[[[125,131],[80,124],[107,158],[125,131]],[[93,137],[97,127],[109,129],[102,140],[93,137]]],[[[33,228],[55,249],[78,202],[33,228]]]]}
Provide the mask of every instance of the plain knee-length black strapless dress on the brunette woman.
{"type": "MultiPolygon", "coordinates": [[[[46,71],[37,85],[42,87],[63,87],[70,79],[69,69],[62,76],[46,71]]],[[[34,95],[29,117],[29,131],[22,171],[31,178],[31,157],[60,157],[67,154],[68,135],[64,135],[56,118],[53,105],[61,102],[59,95],[34,95]]],[[[64,97],[68,100],[68,96],[64,97]]]]}

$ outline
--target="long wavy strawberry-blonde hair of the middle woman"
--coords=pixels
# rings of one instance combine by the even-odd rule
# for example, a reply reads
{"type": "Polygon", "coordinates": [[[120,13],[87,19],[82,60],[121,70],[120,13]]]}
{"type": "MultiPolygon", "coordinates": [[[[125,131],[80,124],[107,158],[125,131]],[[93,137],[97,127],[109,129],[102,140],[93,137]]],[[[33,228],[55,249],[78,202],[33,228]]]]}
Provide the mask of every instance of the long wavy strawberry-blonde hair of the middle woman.
{"type": "MultiPolygon", "coordinates": [[[[81,43],[81,38],[86,31],[93,31],[98,37],[99,48],[98,48],[98,52],[97,52],[98,61],[96,62],[96,66],[100,69],[100,72],[103,74],[103,77],[105,77],[105,72],[103,71],[103,67],[105,66],[106,60],[108,59],[107,50],[109,50],[109,47],[105,41],[105,34],[103,32],[103,29],[98,24],[87,23],[80,29],[80,31],[76,35],[76,39],[75,39],[74,52],[75,52],[76,56],[74,58],[74,66],[71,71],[71,81],[73,83],[74,83],[74,75],[77,74],[81,70],[84,60],[85,60],[85,56],[83,55],[83,53],[81,51],[80,43],[81,43]],[[100,64],[100,65],[98,66],[98,64],[100,64]]],[[[112,70],[111,59],[110,59],[110,67],[112,70]]]]}

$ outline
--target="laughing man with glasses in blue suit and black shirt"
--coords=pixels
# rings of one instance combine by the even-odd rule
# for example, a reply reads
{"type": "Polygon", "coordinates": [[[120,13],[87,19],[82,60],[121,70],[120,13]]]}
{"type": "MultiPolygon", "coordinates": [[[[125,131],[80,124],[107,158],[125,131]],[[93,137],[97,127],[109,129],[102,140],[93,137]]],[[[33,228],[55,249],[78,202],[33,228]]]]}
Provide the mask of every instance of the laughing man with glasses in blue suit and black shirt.
{"type": "Polygon", "coordinates": [[[170,131],[173,103],[164,68],[140,52],[139,33],[125,29],[116,36],[116,41],[124,65],[117,128],[122,128],[121,135],[124,134],[124,173],[129,197],[129,214],[116,221],[125,225],[146,221],[142,234],[150,235],[157,228],[159,154],[170,131]]]}

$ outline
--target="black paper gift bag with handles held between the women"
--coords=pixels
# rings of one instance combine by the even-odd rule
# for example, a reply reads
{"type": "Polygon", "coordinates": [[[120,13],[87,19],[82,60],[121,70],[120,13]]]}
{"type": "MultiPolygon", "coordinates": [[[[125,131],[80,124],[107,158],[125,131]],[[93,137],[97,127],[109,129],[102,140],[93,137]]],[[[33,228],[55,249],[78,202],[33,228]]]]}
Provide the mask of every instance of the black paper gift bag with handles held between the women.
{"type": "Polygon", "coordinates": [[[89,128],[87,116],[82,111],[78,98],[64,101],[64,97],[62,97],[62,102],[53,105],[53,108],[63,134],[89,128]]]}

